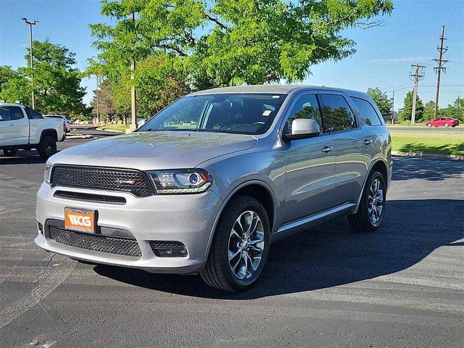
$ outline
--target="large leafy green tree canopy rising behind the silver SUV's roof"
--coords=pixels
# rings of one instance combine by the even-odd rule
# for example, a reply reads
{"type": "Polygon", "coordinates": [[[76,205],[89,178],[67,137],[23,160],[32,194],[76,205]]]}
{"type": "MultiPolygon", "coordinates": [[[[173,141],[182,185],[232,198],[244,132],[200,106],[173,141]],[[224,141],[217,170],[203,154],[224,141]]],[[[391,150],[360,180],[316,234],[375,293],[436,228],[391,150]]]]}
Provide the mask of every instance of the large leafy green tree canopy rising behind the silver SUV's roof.
{"type": "Polygon", "coordinates": [[[301,81],[356,52],[343,30],[392,10],[389,0],[102,0],[115,25],[90,26],[100,51],[90,70],[114,76],[161,50],[195,88],[301,81]]]}

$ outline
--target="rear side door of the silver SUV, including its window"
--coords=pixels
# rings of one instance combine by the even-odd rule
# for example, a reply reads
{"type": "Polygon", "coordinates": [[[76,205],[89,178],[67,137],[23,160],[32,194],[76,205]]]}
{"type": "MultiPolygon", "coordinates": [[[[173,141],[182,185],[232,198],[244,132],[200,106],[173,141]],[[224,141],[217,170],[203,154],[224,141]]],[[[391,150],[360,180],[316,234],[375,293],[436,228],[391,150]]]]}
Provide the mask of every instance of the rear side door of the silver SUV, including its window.
{"type": "Polygon", "coordinates": [[[357,202],[367,169],[374,156],[374,135],[355,117],[350,98],[344,93],[321,94],[327,132],[335,147],[334,203],[340,206],[357,202]]]}

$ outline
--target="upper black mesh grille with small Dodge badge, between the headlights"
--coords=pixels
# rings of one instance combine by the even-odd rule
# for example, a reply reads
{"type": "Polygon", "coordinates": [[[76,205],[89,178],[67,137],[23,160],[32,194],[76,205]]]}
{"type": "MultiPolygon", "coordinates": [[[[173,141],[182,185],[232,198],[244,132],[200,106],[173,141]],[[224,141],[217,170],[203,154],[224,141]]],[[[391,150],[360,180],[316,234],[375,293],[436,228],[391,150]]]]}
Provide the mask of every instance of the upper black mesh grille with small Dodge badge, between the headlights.
{"type": "Polygon", "coordinates": [[[82,189],[129,192],[138,197],[153,195],[144,173],[130,169],[110,169],[74,165],[54,165],[50,184],[82,189]]]}

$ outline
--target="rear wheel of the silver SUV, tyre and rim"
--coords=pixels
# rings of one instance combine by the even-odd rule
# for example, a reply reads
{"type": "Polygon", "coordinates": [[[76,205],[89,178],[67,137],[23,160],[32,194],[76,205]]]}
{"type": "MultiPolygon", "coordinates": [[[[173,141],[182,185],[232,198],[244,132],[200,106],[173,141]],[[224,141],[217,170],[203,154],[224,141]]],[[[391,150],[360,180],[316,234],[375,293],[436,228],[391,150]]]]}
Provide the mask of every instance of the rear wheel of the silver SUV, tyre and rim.
{"type": "Polygon", "coordinates": [[[348,222],[360,232],[372,232],[379,228],[385,216],[386,186],[377,170],[370,173],[363,190],[358,212],[348,215],[348,222]]]}

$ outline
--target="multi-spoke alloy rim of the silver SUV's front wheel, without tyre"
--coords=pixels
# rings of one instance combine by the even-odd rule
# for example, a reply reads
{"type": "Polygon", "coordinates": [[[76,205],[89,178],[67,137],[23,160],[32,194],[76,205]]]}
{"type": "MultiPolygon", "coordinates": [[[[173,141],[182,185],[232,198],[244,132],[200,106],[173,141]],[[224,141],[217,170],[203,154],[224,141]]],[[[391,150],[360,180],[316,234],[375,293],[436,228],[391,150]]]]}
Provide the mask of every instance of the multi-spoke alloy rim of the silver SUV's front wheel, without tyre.
{"type": "Polygon", "coordinates": [[[248,210],[240,214],[229,235],[229,266],[235,277],[250,278],[261,262],[264,229],[258,214],[248,210]]]}

